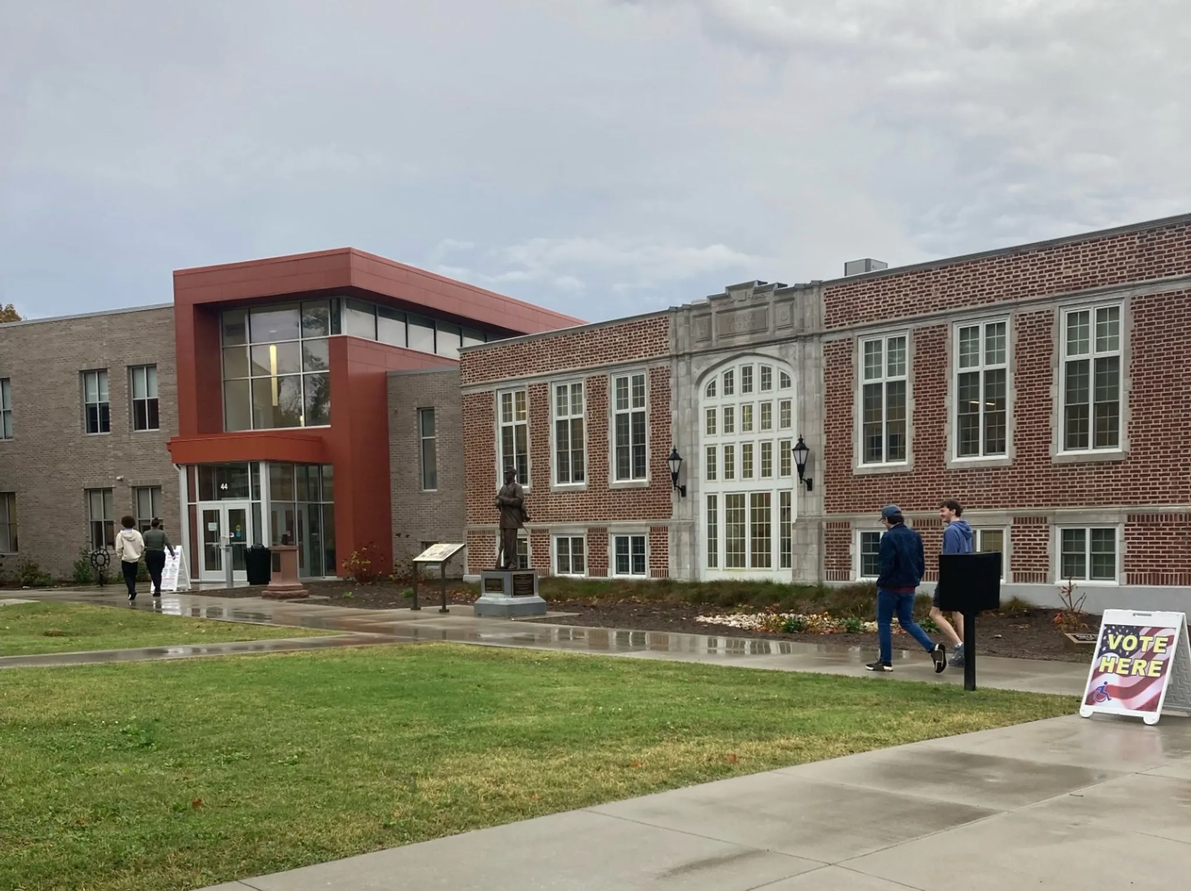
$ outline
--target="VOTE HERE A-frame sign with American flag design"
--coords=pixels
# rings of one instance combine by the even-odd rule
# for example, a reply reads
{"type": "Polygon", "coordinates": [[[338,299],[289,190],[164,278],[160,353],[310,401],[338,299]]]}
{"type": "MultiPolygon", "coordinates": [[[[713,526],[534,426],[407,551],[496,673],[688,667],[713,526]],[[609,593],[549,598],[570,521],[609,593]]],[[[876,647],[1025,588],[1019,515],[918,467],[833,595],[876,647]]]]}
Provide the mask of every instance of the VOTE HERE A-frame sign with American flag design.
{"type": "Polygon", "coordinates": [[[1191,714],[1191,647],[1183,612],[1105,610],[1079,714],[1191,714]]]}

